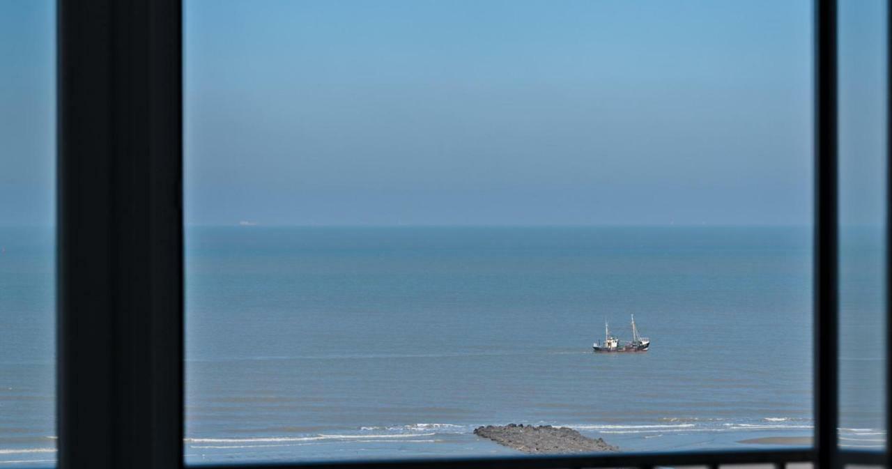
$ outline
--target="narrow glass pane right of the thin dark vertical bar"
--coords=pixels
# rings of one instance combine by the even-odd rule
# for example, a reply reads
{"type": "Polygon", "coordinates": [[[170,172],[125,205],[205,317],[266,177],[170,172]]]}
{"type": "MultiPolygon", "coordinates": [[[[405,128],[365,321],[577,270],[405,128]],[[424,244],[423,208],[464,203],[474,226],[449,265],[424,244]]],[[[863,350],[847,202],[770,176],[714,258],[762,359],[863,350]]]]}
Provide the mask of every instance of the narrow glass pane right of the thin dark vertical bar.
{"type": "Polygon", "coordinates": [[[884,448],[886,2],[839,2],[839,445],[884,448]]]}

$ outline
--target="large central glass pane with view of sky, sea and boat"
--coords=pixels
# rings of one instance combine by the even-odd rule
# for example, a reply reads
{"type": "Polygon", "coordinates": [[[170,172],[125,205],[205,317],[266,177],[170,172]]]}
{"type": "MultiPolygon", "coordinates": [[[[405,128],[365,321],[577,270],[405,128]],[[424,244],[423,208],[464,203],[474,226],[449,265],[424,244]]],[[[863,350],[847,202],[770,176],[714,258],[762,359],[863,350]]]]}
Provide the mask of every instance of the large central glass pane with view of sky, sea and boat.
{"type": "Polygon", "coordinates": [[[186,461],[809,445],[811,24],[187,0],[186,461]]]}

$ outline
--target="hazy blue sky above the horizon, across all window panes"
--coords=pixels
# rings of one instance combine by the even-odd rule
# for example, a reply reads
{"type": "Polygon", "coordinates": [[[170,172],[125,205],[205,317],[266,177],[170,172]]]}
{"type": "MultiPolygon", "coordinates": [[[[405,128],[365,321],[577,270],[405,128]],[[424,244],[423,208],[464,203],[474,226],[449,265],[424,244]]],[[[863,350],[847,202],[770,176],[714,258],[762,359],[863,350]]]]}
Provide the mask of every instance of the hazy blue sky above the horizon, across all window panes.
{"type": "MultiPolygon", "coordinates": [[[[810,4],[187,0],[186,222],[807,224],[810,4]]],[[[881,4],[841,9],[854,222],[881,4]]],[[[0,0],[0,225],[53,219],[53,21],[0,0]]]]}

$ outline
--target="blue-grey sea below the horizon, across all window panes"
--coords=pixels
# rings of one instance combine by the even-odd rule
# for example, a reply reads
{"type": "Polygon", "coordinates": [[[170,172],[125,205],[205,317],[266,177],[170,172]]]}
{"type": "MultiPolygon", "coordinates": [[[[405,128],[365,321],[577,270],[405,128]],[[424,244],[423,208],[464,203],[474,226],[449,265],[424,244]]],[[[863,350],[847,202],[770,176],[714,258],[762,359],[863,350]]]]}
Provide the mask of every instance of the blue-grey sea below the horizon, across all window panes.
{"type": "MultiPolygon", "coordinates": [[[[886,436],[879,233],[842,236],[848,448],[886,436]]],[[[814,431],[809,227],[186,234],[189,464],[517,454],[473,434],[487,424],[623,451],[814,431]],[[632,315],[648,352],[592,352],[605,322],[630,339],[632,315]]],[[[0,467],[55,457],[53,246],[51,229],[0,228],[0,467]]]]}

